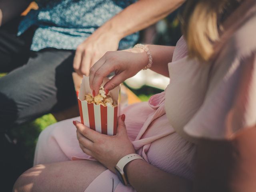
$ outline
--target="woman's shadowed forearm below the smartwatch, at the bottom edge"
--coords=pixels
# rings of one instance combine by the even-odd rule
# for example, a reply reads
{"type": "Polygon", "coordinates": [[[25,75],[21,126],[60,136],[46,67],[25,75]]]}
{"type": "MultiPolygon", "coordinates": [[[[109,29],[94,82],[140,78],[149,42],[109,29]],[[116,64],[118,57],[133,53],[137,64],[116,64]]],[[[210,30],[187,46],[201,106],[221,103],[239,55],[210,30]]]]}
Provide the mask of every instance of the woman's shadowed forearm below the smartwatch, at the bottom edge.
{"type": "Polygon", "coordinates": [[[125,166],[130,184],[138,192],[185,192],[190,191],[192,182],[168,174],[143,160],[133,160],[125,166]]]}

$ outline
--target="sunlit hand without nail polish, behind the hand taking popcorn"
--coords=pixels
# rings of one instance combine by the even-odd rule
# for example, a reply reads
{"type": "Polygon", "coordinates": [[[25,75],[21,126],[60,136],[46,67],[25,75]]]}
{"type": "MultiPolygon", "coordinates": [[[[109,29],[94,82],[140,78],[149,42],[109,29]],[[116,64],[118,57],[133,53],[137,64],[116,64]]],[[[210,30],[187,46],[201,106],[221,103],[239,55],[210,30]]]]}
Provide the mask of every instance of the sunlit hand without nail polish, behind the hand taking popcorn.
{"type": "Polygon", "coordinates": [[[90,68],[107,51],[118,49],[120,38],[112,33],[95,31],[76,49],[73,67],[82,76],[89,76],[90,68]]]}

